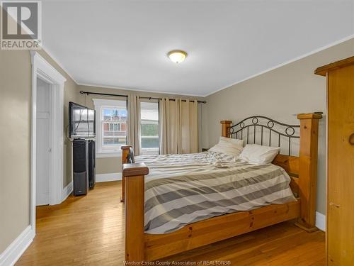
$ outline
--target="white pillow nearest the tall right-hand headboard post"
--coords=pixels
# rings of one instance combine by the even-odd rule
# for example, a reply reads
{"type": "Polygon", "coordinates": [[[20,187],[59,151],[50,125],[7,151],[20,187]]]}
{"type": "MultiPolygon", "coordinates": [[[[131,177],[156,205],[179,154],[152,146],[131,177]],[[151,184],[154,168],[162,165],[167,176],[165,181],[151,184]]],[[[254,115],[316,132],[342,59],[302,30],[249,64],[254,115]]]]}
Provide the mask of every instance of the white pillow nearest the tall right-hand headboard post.
{"type": "Polygon", "coordinates": [[[246,162],[263,165],[273,162],[280,148],[268,147],[257,144],[247,144],[239,158],[246,162]]]}

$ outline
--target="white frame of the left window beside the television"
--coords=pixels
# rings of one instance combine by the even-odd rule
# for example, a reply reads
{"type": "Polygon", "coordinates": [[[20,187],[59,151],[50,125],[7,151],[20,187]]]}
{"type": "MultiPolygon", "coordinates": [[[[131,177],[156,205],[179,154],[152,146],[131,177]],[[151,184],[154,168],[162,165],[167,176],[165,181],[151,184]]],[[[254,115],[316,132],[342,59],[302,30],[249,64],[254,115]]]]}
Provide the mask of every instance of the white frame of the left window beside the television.
{"type": "MultiPolygon", "coordinates": [[[[107,145],[107,148],[103,149],[103,119],[102,119],[102,111],[103,108],[116,108],[117,106],[121,106],[121,102],[125,101],[125,109],[127,110],[127,99],[117,99],[117,100],[106,100],[106,99],[92,99],[93,106],[96,110],[96,157],[121,157],[122,151],[120,150],[121,145],[107,145]],[[120,102],[120,104],[118,104],[120,102]]],[[[128,116],[127,112],[127,116],[128,116]]],[[[112,127],[114,125],[112,123],[112,127]]],[[[127,129],[127,128],[126,128],[127,129]]],[[[125,129],[125,131],[127,131],[125,129]]],[[[126,144],[126,143],[125,143],[126,144]]],[[[122,145],[125,145],[122,144],[122,145]]]]}

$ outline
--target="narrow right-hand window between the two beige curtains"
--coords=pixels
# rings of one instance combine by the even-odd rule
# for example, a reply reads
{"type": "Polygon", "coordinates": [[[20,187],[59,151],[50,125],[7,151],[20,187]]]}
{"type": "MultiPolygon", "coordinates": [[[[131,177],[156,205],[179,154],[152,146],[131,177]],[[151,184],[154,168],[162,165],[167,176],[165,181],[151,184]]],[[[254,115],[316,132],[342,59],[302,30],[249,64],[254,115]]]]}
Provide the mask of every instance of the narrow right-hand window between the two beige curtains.
{"type": "Polygon", "coordinates": [[[142,155],[159,154],[159,103],[140,103],[142,155]]]}

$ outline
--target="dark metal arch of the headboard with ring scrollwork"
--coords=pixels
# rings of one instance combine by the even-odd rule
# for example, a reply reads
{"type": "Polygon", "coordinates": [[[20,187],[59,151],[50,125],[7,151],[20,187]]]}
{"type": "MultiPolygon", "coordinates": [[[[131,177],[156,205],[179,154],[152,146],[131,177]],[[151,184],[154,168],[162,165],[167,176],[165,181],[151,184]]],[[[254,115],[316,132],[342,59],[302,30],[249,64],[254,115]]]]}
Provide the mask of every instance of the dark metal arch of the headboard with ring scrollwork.
{"type": "Polygon", "coordinates": [[[249,116],[239,123],[236,123],[234,126],[229,126],[227,128],[227,134],[230,138],[240,138],[242,140],[246,138],[246,143],[249,144],[250,135],[253,135],[253,143],[256,143],[256,135],[259,133],[261,134],[261,143],[259,144],[264,145],[265,141],[263,140],[263,135],[267,133],[265,131],[268,130],[268,146],[272,143],[273,134],[278,135],[278,147],[280,147],[280,136],[288,138],[287,154],[290,156],[292,139],[300,138],[299,128],[300,125],[282,123],[266,116],[249,116]]]}

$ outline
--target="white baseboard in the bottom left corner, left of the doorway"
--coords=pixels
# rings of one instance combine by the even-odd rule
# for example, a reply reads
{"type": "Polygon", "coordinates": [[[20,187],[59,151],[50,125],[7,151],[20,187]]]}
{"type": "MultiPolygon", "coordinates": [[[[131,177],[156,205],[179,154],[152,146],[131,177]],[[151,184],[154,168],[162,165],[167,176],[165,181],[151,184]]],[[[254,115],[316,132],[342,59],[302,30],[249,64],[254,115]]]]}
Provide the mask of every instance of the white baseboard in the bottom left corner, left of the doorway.
{"type": "Polygon", "coordinates": [[[0,254],[0,266],[13,266],[21,255],[28,248],[35,238],[35,231],[32,226],[27,226],[25,230],[13,240],[6,250],[0,254]]]}

